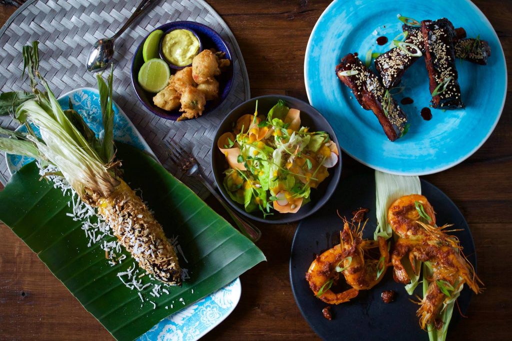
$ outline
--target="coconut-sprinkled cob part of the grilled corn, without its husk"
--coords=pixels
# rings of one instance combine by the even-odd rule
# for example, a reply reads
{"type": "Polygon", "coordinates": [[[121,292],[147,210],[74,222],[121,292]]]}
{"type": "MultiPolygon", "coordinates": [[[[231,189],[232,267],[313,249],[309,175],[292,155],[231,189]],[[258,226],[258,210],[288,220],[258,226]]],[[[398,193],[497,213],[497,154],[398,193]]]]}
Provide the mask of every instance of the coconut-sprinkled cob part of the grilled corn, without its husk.
{"type": "Polygon", "coordinates": [[[121,180],[110,197],[99,199],[98,213],[140,267],[166,284],[181,284],[181,269],[174,247],[130,186],[121,180]]]}

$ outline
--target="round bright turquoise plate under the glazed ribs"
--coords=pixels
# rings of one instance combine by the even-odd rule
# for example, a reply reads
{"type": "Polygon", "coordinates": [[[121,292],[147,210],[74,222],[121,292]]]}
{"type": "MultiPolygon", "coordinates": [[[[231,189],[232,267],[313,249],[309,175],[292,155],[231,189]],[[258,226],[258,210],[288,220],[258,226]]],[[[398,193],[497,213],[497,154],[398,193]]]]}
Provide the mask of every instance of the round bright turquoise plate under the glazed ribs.
{"type": "MultiPolygon", "coordinates": [[[[372,63],[372,69],[373,63],[372,63]]],[[[493,27],[483,13],[468,0],[335,0],[316,22],[309,38],[304,61],[308,99],[336,131],[341,148],[359,162],[381,171],[404,174],[430,174],[453,167],[472,155],[494,130],[503,110],[507,88],[505,57],[493,27]],[[386,52],[401,32],[397,15],[416,20],[449,18],[463,27],[467,37],[489,43],[488,64],[457,60],[462,100],[459,110],[432,109],[433,118],[424,121],[419,112],[428,107],[431,96],[423,58],[404,74],[404,91],[398,101],[411,97],[414,103],[402,105],[411,124],[401,139],[390,142],[371,111],[364,110],[349,88],[335,75],[334,68],[350,52],[364,62],[369,50],[386,52]],[[378,46],[376,39],[389,40],[378,46]]]]}

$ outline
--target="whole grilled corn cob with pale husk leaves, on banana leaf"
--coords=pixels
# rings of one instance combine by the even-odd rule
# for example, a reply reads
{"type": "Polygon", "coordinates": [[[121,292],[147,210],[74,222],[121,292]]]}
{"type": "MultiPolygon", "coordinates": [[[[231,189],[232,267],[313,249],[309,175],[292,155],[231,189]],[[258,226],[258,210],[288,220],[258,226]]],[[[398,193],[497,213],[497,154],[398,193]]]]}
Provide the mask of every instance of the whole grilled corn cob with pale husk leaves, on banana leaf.
{"type": "MultiPolygon", "coordinates": [[[[112,101],[113,69],[108,84],[98,79],[103,139],[97,139],[78,112],[63,110],[48,83],[38,71],[38,42],[23,48],[24,72],[30,78],[33,96],[11,93],[5,98],[23,98],[13,103],[13,116],[22,124],[35,125],[29,134],[16,135],[16,144],[0,140],[0,149],[9,153],[37,157],[54,165],[66,178],[83,202],[98,209],[120,243],[139,265],[156,279],[169,284],[181,284],[181,269],[174,247],[168,242],[162,226],[153,217],[142,199],[121,178],[116,176],[112,101]],[[39,79],[46,91],[37,88],[39,79]]],[[[13,132],[11,134],[14,134],[13,132]]]]}

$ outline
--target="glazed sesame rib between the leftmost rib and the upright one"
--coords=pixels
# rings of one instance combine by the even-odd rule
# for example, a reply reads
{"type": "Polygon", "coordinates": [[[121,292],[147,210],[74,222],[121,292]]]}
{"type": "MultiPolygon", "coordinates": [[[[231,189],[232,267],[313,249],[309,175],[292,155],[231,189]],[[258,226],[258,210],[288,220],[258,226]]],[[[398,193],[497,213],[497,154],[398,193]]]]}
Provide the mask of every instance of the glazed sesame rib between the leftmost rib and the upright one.
{"type": "MultiPolygon", "coordinates": [[[[425,44],[423,43],[421,29],[415,26],[402,25],[402,30],[407,32],[407,38],[404,42],[414,44],[424,54],[425,44]]],[[[455,33],[454,39],[462,39],[466,36],[466,31],[463,28],[455,29],[455,33]]],[[[380,74],[382,84],[387,88],[397,86],[403,73],[419,58],[410,56],[399,48],[393,48],[378,56],[375,59],[375,68],[380,74]]]]}

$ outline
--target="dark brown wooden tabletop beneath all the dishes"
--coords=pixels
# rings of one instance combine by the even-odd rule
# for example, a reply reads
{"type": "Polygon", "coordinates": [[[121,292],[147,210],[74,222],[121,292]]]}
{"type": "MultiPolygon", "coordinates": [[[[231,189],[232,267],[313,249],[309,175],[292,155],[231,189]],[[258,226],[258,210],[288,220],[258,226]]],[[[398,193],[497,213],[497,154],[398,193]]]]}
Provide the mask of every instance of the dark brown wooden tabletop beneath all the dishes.
{"type": "MultiPolygon", "coordinates": [[[[252,96],[287,94],[306,99],[303,75],[306,44],[329,2],[216,0],[210,3],[238,39],[252,96]]],[[[505,56],[512,56],[512,2],[479,0],[475,3],[492,22],[505,56]]],[[[13,12],[13,7],[0,5],[0,24],[13,12]]],[[[510,60],[508,70],[512,68],[510,60]]],[[[424,177],[449,195],[465,215],[476,243],[479,276],[486,287],[481,295],[473,297],[467,319],[451,329],[451,339],[510,338],[511,102],[508,96],[496,130],[480,150],[450,170],[424,177]]],[[[368,170],[345,155],[343,161],[344,177],[368,170]]],[[[262,225],[261,228],[263,238],[258,245],[268,261],[241,276],[239,305],[204,339],[317,339],[298,311],[289,283],[288,261],[296,225],[262,225]]],[[[340,324],[340,337],[343,328],[350,328],[350,321],[340,324]]],[[[112,339],[37,256],[1,223],[0,339],[112,339]]]]}

